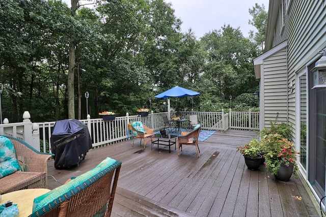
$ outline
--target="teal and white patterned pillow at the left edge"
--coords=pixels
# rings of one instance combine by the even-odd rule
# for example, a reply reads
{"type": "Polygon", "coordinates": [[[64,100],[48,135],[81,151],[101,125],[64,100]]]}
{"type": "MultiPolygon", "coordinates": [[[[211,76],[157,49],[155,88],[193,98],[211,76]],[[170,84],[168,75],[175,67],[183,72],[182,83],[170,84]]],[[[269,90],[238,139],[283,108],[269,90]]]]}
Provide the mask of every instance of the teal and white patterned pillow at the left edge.
{"type": "Polygon", "coordinates": [[[0,136],[0,178],[20,170],[14,145],[7,137],[0,136]]]}

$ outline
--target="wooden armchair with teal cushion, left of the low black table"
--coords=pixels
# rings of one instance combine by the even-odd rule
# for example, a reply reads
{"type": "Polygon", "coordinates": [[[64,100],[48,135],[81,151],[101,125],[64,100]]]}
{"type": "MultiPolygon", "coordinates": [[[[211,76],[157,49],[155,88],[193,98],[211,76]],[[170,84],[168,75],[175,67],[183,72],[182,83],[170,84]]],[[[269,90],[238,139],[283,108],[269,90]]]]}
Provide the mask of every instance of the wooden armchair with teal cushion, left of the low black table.
{"type": "Polygon", "coordinates": [[[133,140],[132,147],[135,138],[141,139],[140,145],[142,144],[142,139],[144,139],[144,149],[146,148],[146,144],[151,142],[151,137],[154,136],[154,129],[150,129],[143,125],[141,121],[132,121],[131,122],[132,132],[133,132],[133,140]]]}

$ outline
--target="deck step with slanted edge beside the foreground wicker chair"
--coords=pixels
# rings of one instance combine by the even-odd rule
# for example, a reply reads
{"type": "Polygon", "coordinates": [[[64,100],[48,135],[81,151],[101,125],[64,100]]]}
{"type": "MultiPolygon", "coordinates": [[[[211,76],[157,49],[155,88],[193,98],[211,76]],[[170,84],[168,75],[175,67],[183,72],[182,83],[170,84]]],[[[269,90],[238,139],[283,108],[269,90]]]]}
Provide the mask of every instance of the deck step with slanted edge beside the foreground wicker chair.
{"type": "Polygon", "coordinates": [[[149,198],[117,187],[111,216],[193,216],[149,198]]]}

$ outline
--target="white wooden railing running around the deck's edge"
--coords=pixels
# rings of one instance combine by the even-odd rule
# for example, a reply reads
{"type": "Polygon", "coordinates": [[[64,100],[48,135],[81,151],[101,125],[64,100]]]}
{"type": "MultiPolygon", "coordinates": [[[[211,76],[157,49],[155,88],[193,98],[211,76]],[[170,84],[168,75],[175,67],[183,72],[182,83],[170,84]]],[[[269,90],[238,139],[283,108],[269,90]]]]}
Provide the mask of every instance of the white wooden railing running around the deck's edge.
{"type": "MultiPolygon", "coordinates": [[[[228,129],[259,130],[259,112],[180,112],[180,115],[188,119],[189,114],[196,114],[202,130],[227,131],[228,129]]],[[[175,116],[175,113],[171,113],[175,116]]],[[[155,131],[164,128],[163,116],[167,112],[150,113],[146,117],[138,115],[116,117],[112,121],[103,121],[102,118],[88,118],[80,120],[89,129],[93,147],[100,147],[108,143],[115,143],[126,140],[128,136],[128,123],[131,121],[142,121],[147,127],[155,131]]],[[[8,123],[0,125],[0,135],[13,136],[26,141],[37,150],[51,152],[50,137],[56,121],[32,123],[30,114],[25,112],[23,122],[8,123]]],[[[181,127],[188,127],[188,122],[182,122],[181,127]]],[[[130,136],[130,135],[129,135],[130,136]]]]}

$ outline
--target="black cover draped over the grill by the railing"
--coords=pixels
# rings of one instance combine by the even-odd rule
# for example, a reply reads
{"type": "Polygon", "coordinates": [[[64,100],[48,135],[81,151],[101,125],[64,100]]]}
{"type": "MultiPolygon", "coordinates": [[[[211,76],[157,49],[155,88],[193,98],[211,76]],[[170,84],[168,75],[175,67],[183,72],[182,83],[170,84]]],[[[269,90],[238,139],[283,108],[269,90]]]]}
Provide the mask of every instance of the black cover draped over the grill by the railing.
{"type": "Polygon", "coordinates": [[[87,126],[76,119],[56,121],[50,140],[51,151],[55,154],[55,168],[78,165],[92,148],[87,126]]]}

